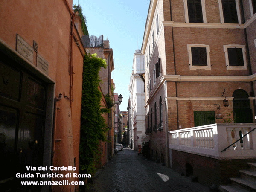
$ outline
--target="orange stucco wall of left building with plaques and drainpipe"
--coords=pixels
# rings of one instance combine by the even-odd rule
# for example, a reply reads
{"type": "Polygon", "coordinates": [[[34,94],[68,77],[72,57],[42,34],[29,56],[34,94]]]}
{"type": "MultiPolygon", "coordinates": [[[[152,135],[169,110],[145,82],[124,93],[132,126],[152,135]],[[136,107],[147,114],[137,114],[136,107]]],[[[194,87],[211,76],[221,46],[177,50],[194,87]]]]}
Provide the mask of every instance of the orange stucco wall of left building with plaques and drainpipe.
{"type": "MultiPolygon", "coordinates": [[[[55,81],[55,97],[58,98],[60,93],[63,95],[63,98],[56,102],[55,124],[53,125],[54,139],[56,140],[53,142],[54,158],[52,162],[54,166],[74,166],[76,164],[75,172],[78,173],[82,67],[83,56],[86,53],[84,48],[79,49],[70,37],[72,4],[73,0],[12,0],[12,2],[1,0],[0,40],[12,50],[16,50],[17,34],[32,47],[33,41],[38,43],[38,54],[49,62],[48,76],[55,81]],[[72,41],[73,94],[70,93],[69,73],[72,41]],[[65,95],[73,99],[73,102],[64,97],[65,95]],[[71,115],[70,118],[69,115],[71,115]],[[68,133],[69,128],[72,128],[71,133],[68,133]]],[[[79,41],[76,30],[74,30],[74,35],[79,41]]],[[[80,44],[82,43],[80,42],[80,44]]],[[[34,52],[33,64],[35,66],[36,54],[34,52]]],[[[66,174],[67,172],[59,173],[66,174]]],[[[69,180],[71,182],[73,178],[69,180]]],[[[79,179],[74,180],[78,181],[79,179]]],[[[75,186],[53,186],[53,191],[74,192],[75,186]]]]}

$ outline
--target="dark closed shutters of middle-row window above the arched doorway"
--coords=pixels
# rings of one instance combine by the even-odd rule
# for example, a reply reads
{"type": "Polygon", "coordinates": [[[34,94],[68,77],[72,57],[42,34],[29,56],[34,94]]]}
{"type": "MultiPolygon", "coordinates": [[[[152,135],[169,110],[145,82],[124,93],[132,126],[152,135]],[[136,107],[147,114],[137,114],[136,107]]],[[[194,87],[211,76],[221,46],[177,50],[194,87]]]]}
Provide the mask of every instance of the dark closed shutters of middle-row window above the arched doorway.
{"type": "Polygon", "coordinates": [[[227,48],[229,66],[244,66],[242,48],[227,48]]]}

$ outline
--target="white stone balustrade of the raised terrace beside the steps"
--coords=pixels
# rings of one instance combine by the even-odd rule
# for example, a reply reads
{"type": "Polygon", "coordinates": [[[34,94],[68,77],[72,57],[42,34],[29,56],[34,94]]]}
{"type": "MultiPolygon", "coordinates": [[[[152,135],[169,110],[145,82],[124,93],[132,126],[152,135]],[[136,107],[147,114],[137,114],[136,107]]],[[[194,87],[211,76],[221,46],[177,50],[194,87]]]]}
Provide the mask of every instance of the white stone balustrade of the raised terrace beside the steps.
{"type": "Polygon", "coordinates": [[[212,124],[169,131],[169,149],[217,159],[256,158],[256,131],[247,134],[255,127],[256,123],[212,124]],[[236,140],[240,141],[232,145],[236,140]]]}

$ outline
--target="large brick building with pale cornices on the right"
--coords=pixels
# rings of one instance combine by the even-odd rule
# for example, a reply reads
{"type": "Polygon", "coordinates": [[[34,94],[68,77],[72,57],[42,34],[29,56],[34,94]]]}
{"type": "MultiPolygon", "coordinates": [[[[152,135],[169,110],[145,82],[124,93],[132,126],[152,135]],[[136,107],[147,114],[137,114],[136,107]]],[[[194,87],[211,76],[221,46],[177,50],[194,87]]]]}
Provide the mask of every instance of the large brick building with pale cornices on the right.
{"type": "Polygon", "coordinates": [[[170,166],[168,131],[222,123],[230,117],[230,122],[253,122],[255,4],[151,0],[141,52],[152,157],[170,166]],[[228,107],[223,106],[225,98],[228,107]]]}

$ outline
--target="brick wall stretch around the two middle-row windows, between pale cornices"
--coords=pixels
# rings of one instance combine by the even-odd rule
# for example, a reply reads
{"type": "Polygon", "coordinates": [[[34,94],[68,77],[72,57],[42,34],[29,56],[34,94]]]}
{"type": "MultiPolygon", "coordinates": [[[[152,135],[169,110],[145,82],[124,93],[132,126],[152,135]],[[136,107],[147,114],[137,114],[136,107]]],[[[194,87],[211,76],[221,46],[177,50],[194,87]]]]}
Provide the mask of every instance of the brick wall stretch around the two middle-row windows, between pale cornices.
{"type": "MultiPolygon", "coordinates": [[[[236,76],[248,71],[227,70],[223,45],[245,45],[243,29],[182,28],[173,29],[176,75],[236,76]],[[211,70],[189,70],[188,44],[205,44],[210,48],[211,70]]],[[[167,36],[166,36],[167,38],[167,36]]],[[[172,44],[170,45],[172,46],[172,44]]],[[[166,46],[167,47],[167,46],[166,46]]],[[[166,49],[166,54],[172,54],[166,49]]],[[[169,73],[172,74],[172,73],[169,73]]]]}

